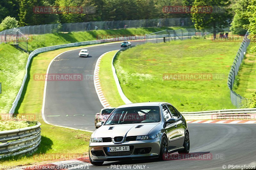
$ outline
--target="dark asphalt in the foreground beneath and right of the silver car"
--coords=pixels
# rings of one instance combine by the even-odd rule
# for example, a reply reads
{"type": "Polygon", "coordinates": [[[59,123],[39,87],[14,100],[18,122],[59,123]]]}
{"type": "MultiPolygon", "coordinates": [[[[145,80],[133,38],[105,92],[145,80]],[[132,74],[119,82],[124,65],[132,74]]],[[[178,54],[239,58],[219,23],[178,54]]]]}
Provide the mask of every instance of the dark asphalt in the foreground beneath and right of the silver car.
{"type": "MultiPolygon", "coordinates": [[[[114,165],[132,165],[129,169],[223,169],[225,165],[256,165],[256,124],[188,124],[190,136],[190,158],[181,159],[178,152],[171,159],[105,162],[102,166],[89,169],[125,169],[114,165]],[[250,140],[248,140],[250,139],[250,140]],[[201,155],[198,157],[198,155],[201,155]],[[112,166],[111,166],[112,165],[112,166]],[[145,166],[145,167],[144,167],[145,166]]],[[[86,166],[87,168],[87,166],[86,166]]],[[[126,168],[127,169],[127,168],[126,168]]]]}

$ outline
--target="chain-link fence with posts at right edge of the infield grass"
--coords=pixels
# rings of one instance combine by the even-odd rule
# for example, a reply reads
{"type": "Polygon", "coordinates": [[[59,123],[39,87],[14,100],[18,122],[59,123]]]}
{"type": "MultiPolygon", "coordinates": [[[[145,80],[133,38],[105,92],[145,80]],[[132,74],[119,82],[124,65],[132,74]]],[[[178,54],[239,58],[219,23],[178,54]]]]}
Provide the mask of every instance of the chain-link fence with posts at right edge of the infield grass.
{"type": "Polygon", "coordinates": [[[234,92],[232,89],[234,87],[235,79],[238,74],[239,68],[246,54],[247,47],[250,44],[250,39],[248,38],[248,35],[249,35],[248,32],[244,35],[243,42],[240,48],[238,49],[238,52],[236,53],[236,58],[228,74],[228,88],[230,89],[230,98],[231,98],[232,104],[235,105],[236,107],[242,106],[242,100],[244,100],[244,98],[239,94],[237,94],[236,92],[234,92]]]}

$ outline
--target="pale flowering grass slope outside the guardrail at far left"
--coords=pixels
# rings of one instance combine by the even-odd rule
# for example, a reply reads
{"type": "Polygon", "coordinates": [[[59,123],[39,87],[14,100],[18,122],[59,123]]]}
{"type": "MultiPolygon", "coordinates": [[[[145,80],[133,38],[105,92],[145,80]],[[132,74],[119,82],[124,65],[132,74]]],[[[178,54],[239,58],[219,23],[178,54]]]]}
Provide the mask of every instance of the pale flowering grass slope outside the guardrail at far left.
{"type": "Polygon", "coordinates": [[[9,113],[25,75],[28,54],[9,44],[0,44],[0,113],[9,113]]]}

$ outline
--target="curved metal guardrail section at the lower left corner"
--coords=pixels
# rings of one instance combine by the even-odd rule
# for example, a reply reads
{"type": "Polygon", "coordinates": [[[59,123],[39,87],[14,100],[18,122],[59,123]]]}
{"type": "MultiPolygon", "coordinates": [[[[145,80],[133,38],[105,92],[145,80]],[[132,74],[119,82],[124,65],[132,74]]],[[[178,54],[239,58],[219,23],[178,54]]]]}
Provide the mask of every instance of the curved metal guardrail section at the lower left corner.
{"type": "Polygon", "coordinates": [[[0,159],[34,152],[41,142],[41,123],[37,125],[0,131],[0,159]]]}

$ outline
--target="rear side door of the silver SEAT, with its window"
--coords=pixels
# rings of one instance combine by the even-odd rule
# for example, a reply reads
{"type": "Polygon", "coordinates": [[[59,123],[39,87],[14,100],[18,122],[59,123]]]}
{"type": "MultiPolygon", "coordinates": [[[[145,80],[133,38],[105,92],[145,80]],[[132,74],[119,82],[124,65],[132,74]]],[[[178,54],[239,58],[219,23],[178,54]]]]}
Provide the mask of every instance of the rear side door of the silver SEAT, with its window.
{"type": "Polygon", "coordinates": [[[172,114],[172,117],[176,119],[177,133],[175,136],[175,140],[176,140],[177,146],[181,147],[183,146],[184,136],[185,136],[184,120],[172,105],[167,105],[167,107],[169,108],[172,114]]]}

